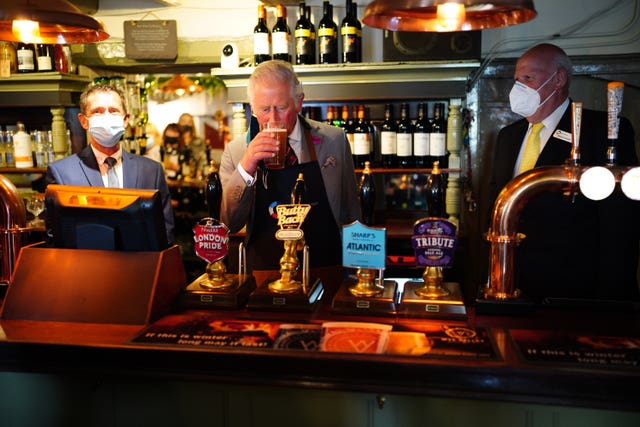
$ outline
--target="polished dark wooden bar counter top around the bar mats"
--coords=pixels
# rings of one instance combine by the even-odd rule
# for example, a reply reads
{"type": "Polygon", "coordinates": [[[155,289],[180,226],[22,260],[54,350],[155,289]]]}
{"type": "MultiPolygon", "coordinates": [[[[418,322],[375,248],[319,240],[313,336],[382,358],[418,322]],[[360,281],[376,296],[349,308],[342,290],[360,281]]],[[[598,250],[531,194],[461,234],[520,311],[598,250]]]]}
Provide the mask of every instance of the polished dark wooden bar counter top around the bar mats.
{"type": "Polygon", "coordinates": [[[540,308],[526,315],[500,316],[476,315],[473,307],[467,310],[464,320],[338,316],[323,302],[312,314],[247,310],[206,314],[220,319],[380,322],[392,324],[394,330],[439,323],[485,328],[495,358],[152,345],[132,341],[145,325],[2,320],[0,370],[640,410],[637,359],[621,367],[531,363],[509,336],[511,330],[524,329],[638,338],[637,313],[540,308]]]}

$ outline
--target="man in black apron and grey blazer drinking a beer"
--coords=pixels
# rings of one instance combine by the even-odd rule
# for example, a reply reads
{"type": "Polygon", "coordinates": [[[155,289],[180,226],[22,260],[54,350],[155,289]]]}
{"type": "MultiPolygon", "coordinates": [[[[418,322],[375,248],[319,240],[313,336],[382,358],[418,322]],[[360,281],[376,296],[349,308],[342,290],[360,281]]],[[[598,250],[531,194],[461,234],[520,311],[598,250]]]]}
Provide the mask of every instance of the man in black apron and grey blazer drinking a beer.
{"type": "Polygon", "coordinates": [[[287,62],[258,65],[249,78],[248,97],[257,125],[246,138],[230,142],[222,155],[222,221],[231,232],[247,226],[250,269],[277,270],[283,245],[275,239],[275,206],[290,203],[296,178],[303,173],[305,203],[311,204],[311,211],[302,229],[311,267],[340,266],[341,226],[360,217],[353,160],[344,131],[299,115],[304,93],[287,62]],[[270,132],[259,131],[269,120],[286,124],[295,152],[284,169],[264,165],[278,149],[270,132]]]}

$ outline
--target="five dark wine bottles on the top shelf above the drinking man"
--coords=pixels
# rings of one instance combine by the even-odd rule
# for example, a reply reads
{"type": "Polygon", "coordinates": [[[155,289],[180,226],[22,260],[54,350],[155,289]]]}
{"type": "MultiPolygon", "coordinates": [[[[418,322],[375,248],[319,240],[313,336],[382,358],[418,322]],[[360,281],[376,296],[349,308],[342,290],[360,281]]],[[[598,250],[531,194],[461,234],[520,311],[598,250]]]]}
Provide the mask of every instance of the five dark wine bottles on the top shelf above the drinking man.
{"type": "Polygon", "coordinates": [[[258,23],[253,29],[254,62],[256,65],[269,59],[281,59],[296,65],[362,62],[362,24],[357,15],[357,4],[346,0],[346,15],[338,28],[333,20],[333,5],[324,1],[322,19],[316,31],[311,20],[311,7],[301,1],[292,38],[284,5],[276,5],[276,23],[269,30],[266,9],[259,4],[258,23]]]}

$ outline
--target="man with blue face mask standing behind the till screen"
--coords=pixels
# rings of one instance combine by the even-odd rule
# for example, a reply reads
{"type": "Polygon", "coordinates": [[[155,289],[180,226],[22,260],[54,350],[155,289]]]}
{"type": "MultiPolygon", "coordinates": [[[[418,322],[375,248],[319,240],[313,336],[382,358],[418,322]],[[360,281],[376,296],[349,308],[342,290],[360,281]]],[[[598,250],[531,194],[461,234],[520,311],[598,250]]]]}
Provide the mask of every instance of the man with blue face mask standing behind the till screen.
{"type": "Polygon", "coordinates": [[[124,95],[99,84],[80,95],[78,120],[87,130],[89,144],[47,167],[47,184],[159,190],[167,229],[173,242],[173,209],[162,165],[122,149],[120,140],[129,121],[124,95]]]}

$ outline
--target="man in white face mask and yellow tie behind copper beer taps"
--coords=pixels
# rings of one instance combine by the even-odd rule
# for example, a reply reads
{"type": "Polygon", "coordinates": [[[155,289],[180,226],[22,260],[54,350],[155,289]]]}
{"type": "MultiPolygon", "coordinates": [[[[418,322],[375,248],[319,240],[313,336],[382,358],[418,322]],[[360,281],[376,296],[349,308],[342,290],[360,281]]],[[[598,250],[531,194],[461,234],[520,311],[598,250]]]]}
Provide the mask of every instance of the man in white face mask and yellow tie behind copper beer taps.
{"type": "MultiPolygon", "coordinates": [[[[552,44],[537,45],[518,59],[509,102],[524,118],[498,134],[489,189],[492,204],[516,175],[569,159],[571,68],[566,53],[552,44]]],[[[606,152],[606,112],[584,109],[580,164],[602,166],[606,152]]],[[[633,129],[624,118],[617,163],[638,164],[633,129]]],[[[518,227],[526,238],[516,250],[516,286],[537,300],[638,299],[639,217],[638,202],[618,193],[599,202],[553,192],[532,198],[518,227]]]]}

